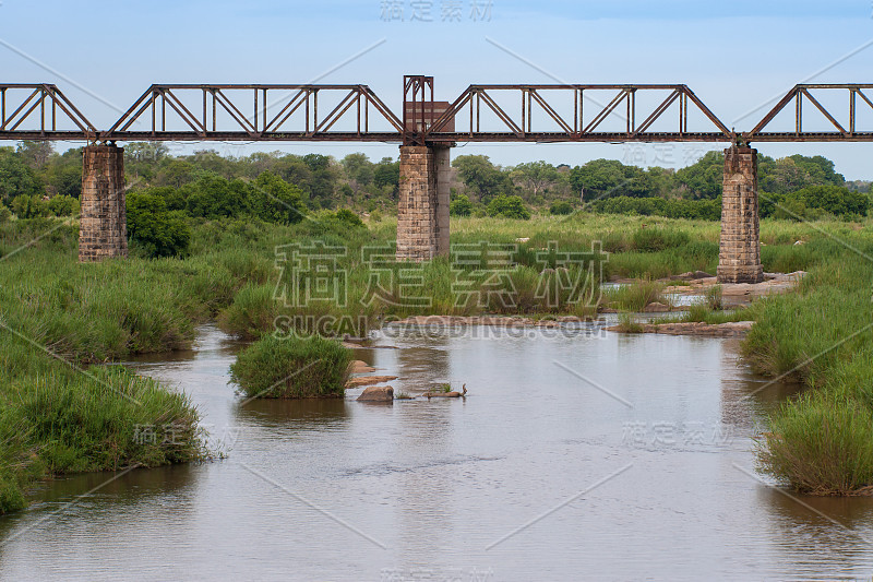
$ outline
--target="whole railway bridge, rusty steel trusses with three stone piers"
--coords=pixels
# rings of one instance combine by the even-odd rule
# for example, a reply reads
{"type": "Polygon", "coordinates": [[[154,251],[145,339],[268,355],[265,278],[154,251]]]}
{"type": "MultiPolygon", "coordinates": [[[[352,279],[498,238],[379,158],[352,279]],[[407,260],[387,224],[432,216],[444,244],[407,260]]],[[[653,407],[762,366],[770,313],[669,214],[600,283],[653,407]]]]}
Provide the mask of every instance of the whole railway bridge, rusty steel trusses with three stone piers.
{"type": "Polygon", "coordinates": [[[0,141],[88,143],[83,262],[127,256],[118,142],[397,143],[396,258],[406,261],[449,252],[450,152],[457,143],[723,143],[718,278],[725,283],[763,278],[753,142],[873,141],[873,84],[797,85],[745,132],[728,129],[682,84],[470,85],[452,102],[434,99],[432,76],[407,75],[403,86],[398,116],[368,85],[152,85],[98,130],[53,84],[0,84],[0,141]]]}

